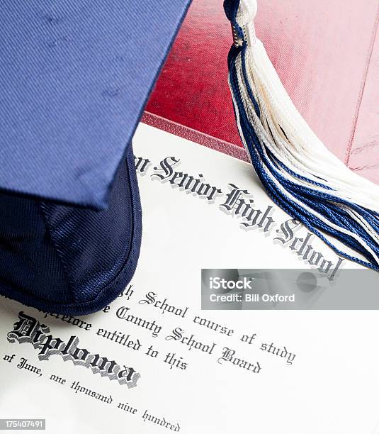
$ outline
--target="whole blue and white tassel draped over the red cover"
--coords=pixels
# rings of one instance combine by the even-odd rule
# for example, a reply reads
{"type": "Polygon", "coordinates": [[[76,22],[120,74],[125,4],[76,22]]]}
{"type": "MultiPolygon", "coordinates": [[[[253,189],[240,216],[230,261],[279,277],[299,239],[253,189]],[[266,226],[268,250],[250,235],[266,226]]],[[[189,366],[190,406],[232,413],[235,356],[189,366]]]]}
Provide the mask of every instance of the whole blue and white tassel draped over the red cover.
{"type": "Polygon", "coordinates": [[[268,195],[338,255],[379,271],[379,187],[329,152],[293,105],[256,38],[256,0],[225,0],[224,9],[234,114],[268,195]]]}

